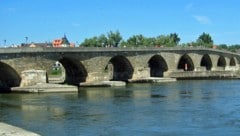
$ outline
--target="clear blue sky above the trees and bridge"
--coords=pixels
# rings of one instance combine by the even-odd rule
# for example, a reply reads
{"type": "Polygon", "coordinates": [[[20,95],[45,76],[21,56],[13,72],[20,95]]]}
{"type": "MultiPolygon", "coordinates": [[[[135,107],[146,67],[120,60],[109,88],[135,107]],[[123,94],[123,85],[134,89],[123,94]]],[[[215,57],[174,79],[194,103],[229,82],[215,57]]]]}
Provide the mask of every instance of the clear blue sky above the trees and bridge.
{"type": "Polygon", "coordinates": [[[181,43],[203,32],[215,44],[240,44],[239,0],[0,0],[0,46],[48,42],[67,35],[74,43],[118,30],[155,37],[177,33],[181,43]]]}

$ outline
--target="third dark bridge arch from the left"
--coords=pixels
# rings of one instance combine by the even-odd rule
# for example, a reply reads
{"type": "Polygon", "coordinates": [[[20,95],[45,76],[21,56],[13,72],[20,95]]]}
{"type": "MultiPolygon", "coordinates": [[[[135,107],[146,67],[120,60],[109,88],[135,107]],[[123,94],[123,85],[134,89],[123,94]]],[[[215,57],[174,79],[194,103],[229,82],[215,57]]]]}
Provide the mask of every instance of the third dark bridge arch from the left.
{"type": "Polygon", "coordinates": [[[109,63],[113,65],[112,79],[114,81],[128,81],[133,76],[133,66],[129,60],[122,55],[110,59],[109,63]]]}

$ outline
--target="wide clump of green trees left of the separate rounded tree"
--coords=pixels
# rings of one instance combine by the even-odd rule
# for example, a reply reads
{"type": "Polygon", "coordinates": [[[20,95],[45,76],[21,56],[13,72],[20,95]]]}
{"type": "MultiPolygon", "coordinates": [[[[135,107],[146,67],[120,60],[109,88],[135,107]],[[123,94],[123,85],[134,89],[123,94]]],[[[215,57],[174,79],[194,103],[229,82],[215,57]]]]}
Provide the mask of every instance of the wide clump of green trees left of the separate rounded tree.
{"type": "Polygon", "coordinates": [[[122,39],[119,31],[110,31],[107,36],[101,34],[87,38],[80,44],[84,47],[174,47],[177,46],[180,38],[176,33],[159,35],[157,37],[145,37],[142,34],[133,35],[126,41],[122,39]]]}

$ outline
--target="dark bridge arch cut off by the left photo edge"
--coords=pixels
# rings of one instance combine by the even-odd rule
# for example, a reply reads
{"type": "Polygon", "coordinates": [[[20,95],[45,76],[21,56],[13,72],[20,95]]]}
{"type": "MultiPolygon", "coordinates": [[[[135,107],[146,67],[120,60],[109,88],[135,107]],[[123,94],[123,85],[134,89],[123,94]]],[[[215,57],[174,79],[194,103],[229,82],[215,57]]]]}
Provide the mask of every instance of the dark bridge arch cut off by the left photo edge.
{"type": "Polygon", "coordinates": [[[0,62],[0,92],[10,92],[11,87],[20,86],[21,77],[8,64],[0,62]]]}

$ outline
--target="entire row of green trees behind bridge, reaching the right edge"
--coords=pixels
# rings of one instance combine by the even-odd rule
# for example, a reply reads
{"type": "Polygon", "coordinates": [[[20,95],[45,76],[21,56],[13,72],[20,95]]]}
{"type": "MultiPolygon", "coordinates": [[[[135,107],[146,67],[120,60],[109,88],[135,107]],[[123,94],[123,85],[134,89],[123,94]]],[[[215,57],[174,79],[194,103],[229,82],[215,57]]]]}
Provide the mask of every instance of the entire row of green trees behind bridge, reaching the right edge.
{"type": "Polygon", "coordinates": [[[106,35],[93,36],[85,39],[80,46],[82,47],[175,47],[175,46],[201,46],[205,48],[217,47],[236,52],[240,45],[226,44],[214,45],[214,41],[210,34],[203,32],[194,42],[181,43],[181,38],[177,33],[170,33],[168,35],[159,35],[156,37],[146,37],[142,34],[133,35],[128,39],[123,39],[119,31],[110,31],[106,35]]]}

